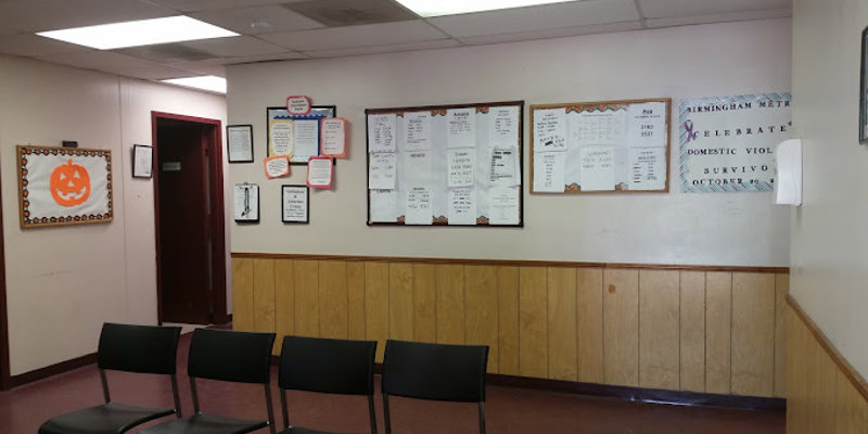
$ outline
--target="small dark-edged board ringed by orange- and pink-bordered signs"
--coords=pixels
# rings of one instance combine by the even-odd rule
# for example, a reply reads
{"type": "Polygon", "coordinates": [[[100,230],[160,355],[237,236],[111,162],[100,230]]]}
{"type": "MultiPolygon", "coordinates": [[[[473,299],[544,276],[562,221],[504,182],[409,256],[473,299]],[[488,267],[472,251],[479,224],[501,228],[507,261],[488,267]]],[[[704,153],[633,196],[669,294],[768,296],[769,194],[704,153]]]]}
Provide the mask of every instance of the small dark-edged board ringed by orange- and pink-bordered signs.
{"type": "Polygon", "coordinates": [[[307,164],[308,157],[319,156],[320,120],[335,116],[334,105],[314,105],[306,115],[291,115],[285,106],[267,107],[266,156],[289,155],[290,164],[307,164]]]}

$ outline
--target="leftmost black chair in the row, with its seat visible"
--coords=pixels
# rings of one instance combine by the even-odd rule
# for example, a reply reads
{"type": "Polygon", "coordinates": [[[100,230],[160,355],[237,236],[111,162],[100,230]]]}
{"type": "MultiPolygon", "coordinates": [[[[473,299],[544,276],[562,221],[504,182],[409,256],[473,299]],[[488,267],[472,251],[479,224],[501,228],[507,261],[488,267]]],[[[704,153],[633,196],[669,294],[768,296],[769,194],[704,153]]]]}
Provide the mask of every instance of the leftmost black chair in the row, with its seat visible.
{"type": "Polygon", "coordinates": [[[169,414],[181,417],[175,378],[179,327],[105,323],[100,332],[97,367],[105,404],[49,419],[39,434],[119,434],[144,422],[169,414]],[[168,375],[175,408],[145,408],[112,401],[105,371],[168,375]]]}

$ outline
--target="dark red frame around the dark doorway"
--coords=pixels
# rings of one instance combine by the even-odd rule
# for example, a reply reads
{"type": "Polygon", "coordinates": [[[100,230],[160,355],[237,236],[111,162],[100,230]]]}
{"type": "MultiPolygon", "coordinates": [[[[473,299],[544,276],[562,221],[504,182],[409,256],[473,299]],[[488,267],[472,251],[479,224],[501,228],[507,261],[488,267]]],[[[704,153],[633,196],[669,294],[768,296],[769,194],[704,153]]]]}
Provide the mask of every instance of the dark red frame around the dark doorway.
{"type": "Polygon", "coordinates": [[[210,192],[210,219],[205,224],[210,227],[212,233],[212,272],[213,291],[212,306],[214,315],[212,322],[229,322],[226,308],[226,222],[224,216],[224,153],[222,153],[222,124],[219,119],[208,119],[204,117],[184,116],[173,113],[151,112],[151,137],[153,143],[154,161],[154,230],[156,248],[156,294],[157,294],[157,320],[163,323],[163,292],[161,288],[161,258],[159,258],[159,145],[157,143],[157,120],[175,119],[184,120],[209,126],[207,140],[208,158],[207,173],[208,191],[210,192]]]}

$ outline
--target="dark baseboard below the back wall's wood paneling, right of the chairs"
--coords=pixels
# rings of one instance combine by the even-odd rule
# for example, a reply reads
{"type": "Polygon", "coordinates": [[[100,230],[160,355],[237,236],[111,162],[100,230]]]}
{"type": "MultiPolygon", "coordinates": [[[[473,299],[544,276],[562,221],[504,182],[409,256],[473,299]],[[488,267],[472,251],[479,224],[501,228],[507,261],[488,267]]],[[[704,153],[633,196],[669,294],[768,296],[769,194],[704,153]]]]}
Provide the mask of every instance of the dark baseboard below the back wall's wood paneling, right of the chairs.
{"type": "Polygon", "coordinates": [[[548,392],[562,392],[576,395],[617,398],[650,404],[667,404],[690,407],[719,407],[741,410],[787,411],[787,400],[783,398],[718,395],[698,392],[613,386],[608,384],[534,379],[496,373],[489,373],[487,375],[487,380],[489,385],[534,388],[548,392]]]}

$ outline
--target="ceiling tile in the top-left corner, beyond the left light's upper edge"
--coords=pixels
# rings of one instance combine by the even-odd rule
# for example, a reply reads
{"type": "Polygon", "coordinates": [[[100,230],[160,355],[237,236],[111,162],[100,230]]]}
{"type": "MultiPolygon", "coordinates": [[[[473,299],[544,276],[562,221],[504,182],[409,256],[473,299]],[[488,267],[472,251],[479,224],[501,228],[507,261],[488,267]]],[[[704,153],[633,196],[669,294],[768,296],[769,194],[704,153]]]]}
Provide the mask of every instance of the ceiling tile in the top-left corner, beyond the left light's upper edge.
{"type": "Polygon", "coordinates": [[[0,3],[0,28],[34,33],[177,15],[139,0],[30,0],[0,3]]]}

